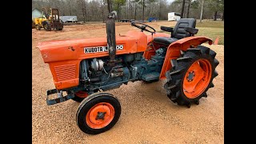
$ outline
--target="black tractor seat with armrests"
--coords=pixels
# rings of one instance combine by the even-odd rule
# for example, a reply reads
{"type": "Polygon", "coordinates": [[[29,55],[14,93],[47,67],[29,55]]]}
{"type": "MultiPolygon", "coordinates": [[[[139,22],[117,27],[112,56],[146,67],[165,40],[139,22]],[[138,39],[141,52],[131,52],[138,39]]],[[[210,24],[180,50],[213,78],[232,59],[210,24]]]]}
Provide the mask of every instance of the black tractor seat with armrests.
{"type": "Polygon", "coordinates": [[[178,41],[178,39],[190,37],[192,34],[187,32],[184,28],[191,27],[195,28],[196,19],[194,18],[181,18],[178,20],[174,28],[161,26],[161,30],[170,32],[170,38],[166,37],[157,37],[154,38],[154,42],[169,46],[172,42],[178,41]]]}

